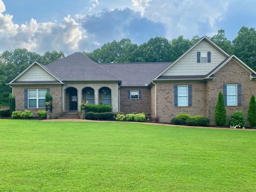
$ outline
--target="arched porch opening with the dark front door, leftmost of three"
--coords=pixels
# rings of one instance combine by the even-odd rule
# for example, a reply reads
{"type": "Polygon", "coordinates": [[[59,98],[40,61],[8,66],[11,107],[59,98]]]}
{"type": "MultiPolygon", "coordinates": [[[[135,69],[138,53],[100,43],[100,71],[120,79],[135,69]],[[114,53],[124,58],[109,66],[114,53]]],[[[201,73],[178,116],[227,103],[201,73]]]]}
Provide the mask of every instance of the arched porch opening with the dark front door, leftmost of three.
{"type": "Polygon", "coordinates": [[[69,87],[66,89],[66,110],[77,111],[77,89],[69,87]]]}

